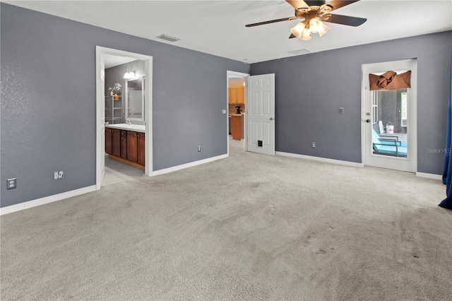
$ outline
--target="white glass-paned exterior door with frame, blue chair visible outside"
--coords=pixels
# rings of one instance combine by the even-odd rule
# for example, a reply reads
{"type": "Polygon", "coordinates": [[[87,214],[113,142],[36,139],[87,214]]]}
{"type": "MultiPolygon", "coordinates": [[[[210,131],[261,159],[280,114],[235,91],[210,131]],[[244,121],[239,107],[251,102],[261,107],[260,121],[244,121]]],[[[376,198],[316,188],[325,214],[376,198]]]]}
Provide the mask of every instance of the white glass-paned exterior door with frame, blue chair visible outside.
{"type": "Polygon", "coordinates": [[[363,65],[364,165],[417,172],[417,61],[363,65]],[[411,88],[369,90],[369,73],[411,70],[411,88]],[[389,124],[391,123],[391,124],[389,124]]]}

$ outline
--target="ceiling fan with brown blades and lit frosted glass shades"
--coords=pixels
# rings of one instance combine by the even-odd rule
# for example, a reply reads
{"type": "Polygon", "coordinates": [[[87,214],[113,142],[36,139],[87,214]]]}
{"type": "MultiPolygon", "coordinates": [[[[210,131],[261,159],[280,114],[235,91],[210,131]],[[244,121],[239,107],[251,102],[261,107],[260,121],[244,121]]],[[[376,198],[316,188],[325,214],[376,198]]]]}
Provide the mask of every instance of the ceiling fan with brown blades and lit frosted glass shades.
{"type": "Polygon", "coordinates": [[[276,23],[281,21],[295,20],[297,18],[304,19],[302,22],[295,25],[290,30],[290,39],[299,37],[302,40],[311,40],[311,33],[319,33],[324,35],[330,28],[323,24],[323,22],[336,23],[348,26],[359,26],[366,22],[366,18],[333,15],[331,11],[341,8],[343,6],[352,4],[359,0],[332,0],[326,2],[325,0],[285,0],[288,4],[295,8],[295,16],[288,18],[281,18],[276,20],[268,20],[259,23],[252,23],[245,25],[246,27],[253,27],[258,25],[276,23]]]}

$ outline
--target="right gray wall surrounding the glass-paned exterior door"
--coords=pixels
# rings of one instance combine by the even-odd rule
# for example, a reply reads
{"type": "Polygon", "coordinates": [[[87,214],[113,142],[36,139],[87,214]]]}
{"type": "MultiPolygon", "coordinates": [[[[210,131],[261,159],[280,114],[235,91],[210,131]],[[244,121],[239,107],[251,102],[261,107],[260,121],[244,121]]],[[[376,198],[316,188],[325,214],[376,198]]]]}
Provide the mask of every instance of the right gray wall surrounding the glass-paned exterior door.
{"type": "Polygon", "coordinates": [[[361,163],[362,64],[416,58],[417,170],[442,174],[444,153],[428,149],[446,145],[451,48],[448,31],[251,64],[275,73],[276,151],[361,163]]]}

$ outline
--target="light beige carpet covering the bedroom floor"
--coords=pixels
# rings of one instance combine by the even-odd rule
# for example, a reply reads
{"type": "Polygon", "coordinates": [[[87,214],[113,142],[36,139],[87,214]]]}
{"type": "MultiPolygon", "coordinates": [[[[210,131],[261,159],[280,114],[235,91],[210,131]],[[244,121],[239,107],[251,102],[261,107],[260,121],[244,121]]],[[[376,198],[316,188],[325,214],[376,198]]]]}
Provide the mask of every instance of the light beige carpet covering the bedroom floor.
{"type": "Polygon", "coordinates": [[[1,300],[451,300],[441,182],[237,146],[1,216],[1,300]]]}

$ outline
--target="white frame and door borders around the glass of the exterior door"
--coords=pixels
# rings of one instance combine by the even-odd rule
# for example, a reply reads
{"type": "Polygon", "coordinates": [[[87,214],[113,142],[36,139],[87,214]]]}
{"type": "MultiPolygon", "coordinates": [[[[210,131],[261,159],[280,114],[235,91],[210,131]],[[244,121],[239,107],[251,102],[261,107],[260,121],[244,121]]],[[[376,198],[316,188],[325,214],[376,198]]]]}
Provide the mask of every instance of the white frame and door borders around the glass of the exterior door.
{"type": "MultiPolygon", "coordinates": [[[[380,73],[389,70],[411,70],[411,88],[408,105],[408,158],[410,166],[404,165],[407,162],[403,158],[392,158],[390,156],[379,155],[377,167],[388,168],[392,170],[402,170],[407,172],[417,172],[417,59],[405,59],[400,61],[386,61],[376,64],[362,65],[362,122],[361,122],[361,141],[362,141],[362,164],[366,164],[366,144],[371,143],[369,134],[366,135],[366,101],[369,98],[369,73],[380,73]]],[[[371,126],[371,124],[370,124],[371,126]]],[[[376,166],[373,165],[372,166],[376,166]]]]}

